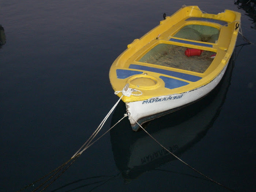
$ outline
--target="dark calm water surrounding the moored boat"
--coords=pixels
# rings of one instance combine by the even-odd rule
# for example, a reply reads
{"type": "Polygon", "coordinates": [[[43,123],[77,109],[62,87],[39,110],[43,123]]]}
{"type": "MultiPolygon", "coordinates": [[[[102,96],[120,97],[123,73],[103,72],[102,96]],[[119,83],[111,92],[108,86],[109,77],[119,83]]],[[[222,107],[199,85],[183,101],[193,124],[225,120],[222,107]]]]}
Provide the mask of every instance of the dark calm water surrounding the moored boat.
{"type": "MultiPolygon", "coordinates": [[[[212,94],[152,121],[148,131],[208,177],[235,191],[254,191],[252,1],[1,1],[0,191],[18,191],[72,157],[118,100],[108,78],[114,59],[157,26],[163,12],[171,15],[182,4],[214,14],[241,12],[242,33],[254,45],[237,47],[212,94]]],[[[103,130],[123,113],[120,103],[103,130]]],[[[228,191],[166,154],[146,133],[132,132],[127,119],[45,191],[90,190],[228,191]]]]}

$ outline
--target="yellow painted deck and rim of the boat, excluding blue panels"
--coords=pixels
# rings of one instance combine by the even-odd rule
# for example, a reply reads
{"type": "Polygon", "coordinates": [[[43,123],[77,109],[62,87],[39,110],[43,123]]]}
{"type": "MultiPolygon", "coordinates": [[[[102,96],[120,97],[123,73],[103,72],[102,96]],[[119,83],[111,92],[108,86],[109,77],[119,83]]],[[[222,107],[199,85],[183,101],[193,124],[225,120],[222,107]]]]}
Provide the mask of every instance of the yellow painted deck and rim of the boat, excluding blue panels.
{"type": "MultiPolygon", "coordinates": [[[[155,86],[140,86],[136,87],[131,85],[130,87],[141,90],[142,95],[131,97],[123,97],[122,100],[124,102],[133,102],[133,101],[142,101],[146,99],[150,99],[153,97],[161,97],[164,95],[173,95],[180,94],[191,91],[193,89],[197,89],[202,87],[208,83],[210,83],[213,79],[215,79],[225,68],[227,65],[231,54],[233,53],[234,46],[236,44],[236,38],[238,34],[238,29],[236,29],[236,23],[240,23],[241,14],[238,12],[225,10],[225,12],[219,13],[217,15],[214,14],[203,14],[202,11],[199,10],[197,6],[190,6],[181,8],[176,13],[174,13],[170,17],[166,17],[166,20],[162,20],[160,25],[143,35],[140,39],[135,39],[117,59],[114,61],[109,71],[110,83],[114,91],[121,91],[126,83],[129,83],[129,79],[132,77],[129,76],[125,79],[118,79],[116,75],[116,69],[127,69],[130,71],[140,71],[143,73],[147,73],[148,76],[153,76],[157,79],[157,85],[155,86]],[[227,26],[222,26],[218,23],[212,23],[207,21],[185,21],[189,17],[202,17],[209,19],[217,19],[223,20],[229,23],[227,26]],[[215,27],[220,30],[218,42],[208,43],[208,42],[199,42],[188,39],[181,39],[173,37],[174,34],[177,33],[182,27],[186,25],[207,25],[211,27],[215,27]],[[169,27],[172,26],[172,27],[169,27]],[[169,39],[177,39],[177,40],[185,40],[188,43],[183,42],[175,42],[170,41],[169,39]],[[200,45],[194,45],[193,43],[200,43],[200,45]],[[189,48],[208,50],[211,52],[216,52],[217,55],[215,59],[212,61],[210,66],[203,73],[187,71],[184,69],[165,67],[160,65],[148,64],[139,62],[139,59],[146,54],[149,50],[151,50],[154,46],[158,44],[170,44],[170,45],[178,45],[185,46],[189,48]],[[206,45],[206,46],[202,46],[206,45]],[[208,46],[212,47],[208,47],[208,46]],[[196,82],[191,82],[189,80],[180,79],[178,77],[163,75],[157,72],[144,71],[139,69],[130,69],[130,64],[142,65],[146,67],[154,67],[159,69],[165,69],[167,71],[180,72],[188,75],[194,75],[201,77],[202,79],[197,80],[196,82]],[[182,80],[183,82],[189,83],[188,85],[177,87],[175,89],[167,89],[165,88],[165,83],[159,76],[166,76],[172,79],[182,80]]],[[[133,75],[136,76],[136,75],[133,75]]],[[[138,75],[137,75],[138,76],[138,75]]],[[[118,94],[121,97],[121,93],[118,94]]]]}

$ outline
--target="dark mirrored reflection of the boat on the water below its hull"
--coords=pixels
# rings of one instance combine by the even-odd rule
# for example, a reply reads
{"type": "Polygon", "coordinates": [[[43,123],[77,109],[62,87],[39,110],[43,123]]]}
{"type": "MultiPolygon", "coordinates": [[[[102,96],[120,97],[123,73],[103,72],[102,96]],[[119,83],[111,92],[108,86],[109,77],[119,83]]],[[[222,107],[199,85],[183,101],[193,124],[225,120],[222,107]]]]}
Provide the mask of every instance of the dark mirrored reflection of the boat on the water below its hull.
{"type": "MultiPolygon", "coordinates": [[[[232,58],[221,82],[211,93],[186,108],[149,121],[145,124],[147,132],[177,156],[199,142],[212,127],[225,102],[234,67],[232,58]]],[[[125,111],[125,104],[118,103],[111,126],[123,117],[125,111]]],[[[128,118],[110,130],[110,139],[116,166],[126,181],[176,160],[143,130],[132,131],[128,118]]]]}

